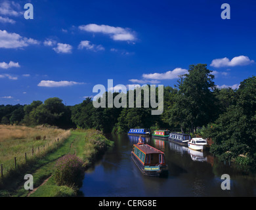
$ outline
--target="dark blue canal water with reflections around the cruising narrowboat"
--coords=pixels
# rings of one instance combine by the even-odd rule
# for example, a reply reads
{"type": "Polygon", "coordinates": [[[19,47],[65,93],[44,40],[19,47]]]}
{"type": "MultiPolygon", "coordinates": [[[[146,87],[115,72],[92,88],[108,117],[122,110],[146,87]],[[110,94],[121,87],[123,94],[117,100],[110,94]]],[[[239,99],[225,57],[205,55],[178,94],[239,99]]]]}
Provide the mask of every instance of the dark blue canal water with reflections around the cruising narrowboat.
{"type": "Polygon", "coordinates": [[[131,160],[139,137],[107,135],[115,146],[85,173],[80,191],[85,197],[256,196],[255,175],[232,163],[222,163],[209,152],[196,152],[168,140],[142,137],[165,152],[169,176],[142,175],[131,160]],[[230,190],[222,190],[221,175],[230,176],[230,190]]]}

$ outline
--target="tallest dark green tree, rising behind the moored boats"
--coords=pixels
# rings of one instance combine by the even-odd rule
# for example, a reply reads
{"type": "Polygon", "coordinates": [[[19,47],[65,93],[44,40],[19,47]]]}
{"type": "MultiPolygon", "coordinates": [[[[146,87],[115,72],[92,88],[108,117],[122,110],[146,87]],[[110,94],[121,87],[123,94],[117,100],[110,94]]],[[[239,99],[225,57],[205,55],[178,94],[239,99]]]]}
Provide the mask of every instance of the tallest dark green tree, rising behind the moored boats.
{"type": "Polygon", "coordinates": [[[180,76],[177,85],[179,92],[171,108],[170,122],[179,122],[181,130],[189,126],[194,133],[194,129],[213,120],[211,111],[215,104],[215,83],[211,72],[207,64],[197,64],[190,66],[188,74],[180,76]]]}

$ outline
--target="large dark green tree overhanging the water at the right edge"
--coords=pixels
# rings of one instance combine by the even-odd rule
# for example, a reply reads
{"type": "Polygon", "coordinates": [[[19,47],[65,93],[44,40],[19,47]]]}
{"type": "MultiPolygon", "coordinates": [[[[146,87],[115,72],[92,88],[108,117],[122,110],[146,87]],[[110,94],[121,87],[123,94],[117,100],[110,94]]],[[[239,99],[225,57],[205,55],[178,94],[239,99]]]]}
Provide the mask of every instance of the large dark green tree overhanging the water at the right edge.
{"type": "Polygon", "coordinates": [[[247,158],[244,163],[256,163],[256,77],[249,77],[240,83],[236,105],[217,119],[216,125],[208,125],[204,136],[211,137],[214,144],[211,152],[221,159],[247,158]]]}

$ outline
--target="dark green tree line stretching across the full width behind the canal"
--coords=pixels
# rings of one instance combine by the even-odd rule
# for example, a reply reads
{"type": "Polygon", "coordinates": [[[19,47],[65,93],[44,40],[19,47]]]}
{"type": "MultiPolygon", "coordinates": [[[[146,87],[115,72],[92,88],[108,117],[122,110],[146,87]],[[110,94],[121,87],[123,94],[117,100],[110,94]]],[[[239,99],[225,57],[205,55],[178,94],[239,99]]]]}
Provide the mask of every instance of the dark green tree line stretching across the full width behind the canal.
{"type": "MultiPolygon", "coordinates": [[[[146,99],[140,87],[141,108],[95,108],[92,98],[65,106],[55,97],[25,106],[2,105],[0,121],[4,124],[94,128],[104,133],[127,132],[139,127],[199,133],[204,138],[212,138],[211,152],[221,159],[256,165],[256,77],[244,79],[236,90],[217,89],[214,78],[207,64],[191,65],[188,74],[179,76],[175,87],[164,87],[164,109],[160,116],[152,116],[152,108],[143,107],[146,99]]],[[[127,99],[129,93],[127,91],[127,99]]],[[[110,93],[105,94],[108,97],[110,93]]],[[[113,93],[114,97],[118,94],[113,93]]],[[[136,89],[133,95],[136,97],[136,89]]]]}

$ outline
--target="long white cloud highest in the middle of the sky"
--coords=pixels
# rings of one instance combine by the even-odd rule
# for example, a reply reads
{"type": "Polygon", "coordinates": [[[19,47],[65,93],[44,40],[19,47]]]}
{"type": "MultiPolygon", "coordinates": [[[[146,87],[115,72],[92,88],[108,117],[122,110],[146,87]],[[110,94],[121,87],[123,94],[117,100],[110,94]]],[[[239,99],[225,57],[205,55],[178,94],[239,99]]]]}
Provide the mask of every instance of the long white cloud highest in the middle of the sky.
{"type": "Polygon", "coordinates": [[[107,25],[87,24],[79,26],[79,30],[93,32],[93,33],[104,33],[110,35],[115,41],[135,41],[135,32],[129,28],[121,28],[107,25]]]}

